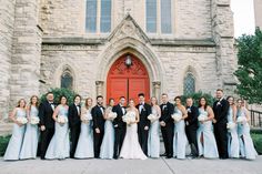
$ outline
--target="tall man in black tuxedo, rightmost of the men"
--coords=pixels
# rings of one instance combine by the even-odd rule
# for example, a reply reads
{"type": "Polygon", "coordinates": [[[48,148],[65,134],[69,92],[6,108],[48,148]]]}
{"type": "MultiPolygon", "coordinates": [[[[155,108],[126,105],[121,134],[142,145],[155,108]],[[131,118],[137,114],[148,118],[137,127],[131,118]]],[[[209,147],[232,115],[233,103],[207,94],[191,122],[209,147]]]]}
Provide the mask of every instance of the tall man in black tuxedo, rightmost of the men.
{"type": "Polygon", "coordinates": [[[218,144],[220,158],[229,158],[228,153],[228,112],[229,102],[223,98],[223,90],[216,90],[216,101],[213,104],[214,111],[214,136],[218,144]]]}

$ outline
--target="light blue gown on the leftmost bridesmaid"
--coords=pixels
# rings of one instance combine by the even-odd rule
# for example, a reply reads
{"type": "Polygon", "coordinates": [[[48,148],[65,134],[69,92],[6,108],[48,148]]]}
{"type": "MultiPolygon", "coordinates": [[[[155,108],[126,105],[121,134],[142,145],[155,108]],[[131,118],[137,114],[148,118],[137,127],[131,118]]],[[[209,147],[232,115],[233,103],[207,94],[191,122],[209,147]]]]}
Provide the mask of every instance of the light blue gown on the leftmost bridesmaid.
{"type": "MultiPolygon", "coordinates": [[[[22,109],[18,108],[16,117],[27,117],[26,110],[23,111],[22,109]]],[[[12,136],[8,143],[8,147],[4,153],[3,160],[6,161],[19,160],[24,131],[26,131],[26,125],[19,126],[16,123],[13,124],[12,136]]]]}

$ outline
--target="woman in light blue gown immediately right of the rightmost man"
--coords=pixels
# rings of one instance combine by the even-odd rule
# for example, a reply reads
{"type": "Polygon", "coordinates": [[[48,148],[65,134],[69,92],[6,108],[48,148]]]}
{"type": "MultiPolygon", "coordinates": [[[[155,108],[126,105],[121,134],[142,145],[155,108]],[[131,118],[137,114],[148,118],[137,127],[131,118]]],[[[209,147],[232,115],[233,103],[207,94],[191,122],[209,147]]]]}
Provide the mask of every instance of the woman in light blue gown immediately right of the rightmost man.
{"type": "MultiPolygon", "coordinates": [[[[236,106],[234,104],[234,98],[233,96],[228,96],[228,102],[230,104],[229,112],[228,112],[228,124],[235,124],[236,122],[236,106]]],[[[239,158],[239,137],[238,137],[238,126],[233,126],[232,129],[229,129],[228,131],[228,137],[229,137],[229,143],[228,143],[228,152],[229,152],[229,157],[234,157],[239,158]]]]}

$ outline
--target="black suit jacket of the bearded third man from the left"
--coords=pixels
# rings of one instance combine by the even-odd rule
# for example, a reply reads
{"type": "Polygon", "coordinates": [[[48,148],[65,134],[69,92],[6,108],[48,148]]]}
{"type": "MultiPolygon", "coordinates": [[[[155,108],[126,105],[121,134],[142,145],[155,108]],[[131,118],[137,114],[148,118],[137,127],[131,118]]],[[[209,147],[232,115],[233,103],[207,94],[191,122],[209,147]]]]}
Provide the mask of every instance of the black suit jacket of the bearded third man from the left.
{"type": "MultiPolygon", "coordinates": [[[[103,112],[104,111],[104,108],[101,106],[103,109],[103,112]]],[[[92,119],[93,119],[93,129],[99,129],[101,131],[104,130],[104,119],[103,119],[103,113],[100,109],[99,105],[95,105],[94,108],[92,108],[92,111],[91,111],[91,114],[92,114],[92,119]]]]}

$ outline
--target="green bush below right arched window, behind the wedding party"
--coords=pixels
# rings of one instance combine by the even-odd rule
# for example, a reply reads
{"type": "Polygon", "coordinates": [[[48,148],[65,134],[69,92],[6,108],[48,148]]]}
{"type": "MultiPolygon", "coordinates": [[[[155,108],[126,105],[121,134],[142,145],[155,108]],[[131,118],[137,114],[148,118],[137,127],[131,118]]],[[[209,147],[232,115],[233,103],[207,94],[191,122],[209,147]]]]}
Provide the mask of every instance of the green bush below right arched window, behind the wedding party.
{"type": "Polygon", "coordinates": [[[194,102],[194,105],[198,106],[199,105],[199,99],[201,96],[204,96],[206,100],[208,100],[208,104],[210,106],[213,106],[213,103],[215,101],[215,99],[210,94],[210,93],[203,93],[202,91],[199,91],[199,92],[194,92],[194,93],[191,93],[191,94],[188,94],[188,95],[182,95],[182,103],[185,104],[185,100],[187,98],[192,98],[193,99],[193,102],[194,102]]]}

